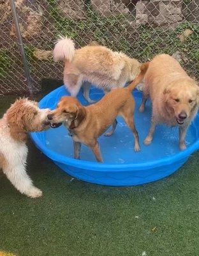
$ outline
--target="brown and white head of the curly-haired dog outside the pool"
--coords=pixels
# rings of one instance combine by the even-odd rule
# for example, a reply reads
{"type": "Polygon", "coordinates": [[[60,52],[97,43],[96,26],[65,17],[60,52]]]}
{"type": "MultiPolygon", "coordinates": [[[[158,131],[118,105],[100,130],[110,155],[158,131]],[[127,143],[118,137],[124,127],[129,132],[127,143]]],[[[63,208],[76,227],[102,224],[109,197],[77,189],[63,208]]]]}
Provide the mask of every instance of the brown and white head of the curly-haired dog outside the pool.
{"type": "Polygon", "coordinates": [[[16,100],[6,112],[11,136],[16,140],[25,140],[27,132],[48,129],[48,113],[50,109],[38,108],[37,102],[28,99],[16,100]]]}

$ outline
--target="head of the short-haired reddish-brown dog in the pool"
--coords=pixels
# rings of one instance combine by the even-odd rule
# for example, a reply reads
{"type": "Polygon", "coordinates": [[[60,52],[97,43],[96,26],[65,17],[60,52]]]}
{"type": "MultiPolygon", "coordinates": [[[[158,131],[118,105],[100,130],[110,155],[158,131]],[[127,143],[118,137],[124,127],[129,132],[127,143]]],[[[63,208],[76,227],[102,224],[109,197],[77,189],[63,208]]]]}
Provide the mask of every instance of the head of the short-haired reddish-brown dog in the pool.
{"type": "MultiPolygon", "coordinates": [[[[48,120],[51,123],[50,126],[56,128],[63,123],[71,125],[75,120],[80,122],[84,116],[85,110],[80,102],[75,97],[65,96],[59,100],[57,108],[48,115],[48,120]]],[[[73,128],[72,126],[70,127],[70,129],[73,128]]]]}

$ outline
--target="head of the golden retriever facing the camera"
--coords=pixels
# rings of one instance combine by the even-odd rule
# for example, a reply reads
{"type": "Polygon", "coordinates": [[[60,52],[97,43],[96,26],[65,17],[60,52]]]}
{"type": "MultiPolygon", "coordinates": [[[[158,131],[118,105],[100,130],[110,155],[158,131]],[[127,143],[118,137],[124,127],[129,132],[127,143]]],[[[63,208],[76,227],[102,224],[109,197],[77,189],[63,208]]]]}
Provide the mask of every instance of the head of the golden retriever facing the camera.
{"type": "Polygon", "coordinates": [[[167,106],[175,114],[177,124],[183,124],[193,110],[198,108],[199,87],[193,80],[173,82],[167,86],[164,95],[167,106]]]}

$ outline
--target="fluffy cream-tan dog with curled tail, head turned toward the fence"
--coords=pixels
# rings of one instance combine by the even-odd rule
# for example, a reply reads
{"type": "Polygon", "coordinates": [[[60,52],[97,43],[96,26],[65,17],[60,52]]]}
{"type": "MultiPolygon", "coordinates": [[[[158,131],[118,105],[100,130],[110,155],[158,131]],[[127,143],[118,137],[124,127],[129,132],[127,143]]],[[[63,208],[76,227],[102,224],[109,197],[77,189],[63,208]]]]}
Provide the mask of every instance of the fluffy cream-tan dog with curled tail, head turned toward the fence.
{"type": "Polygon", "coordinates": [[[76,97],[84,83],[84,97],[89,102],[90,83],[109,91],[124,87],[140,70],[140,63],[122,52],[92,43],[75,50],[69,38],[61,38],[54,48],[54,60],[64,61],[64,84],[71,96],[76,97]]]}

